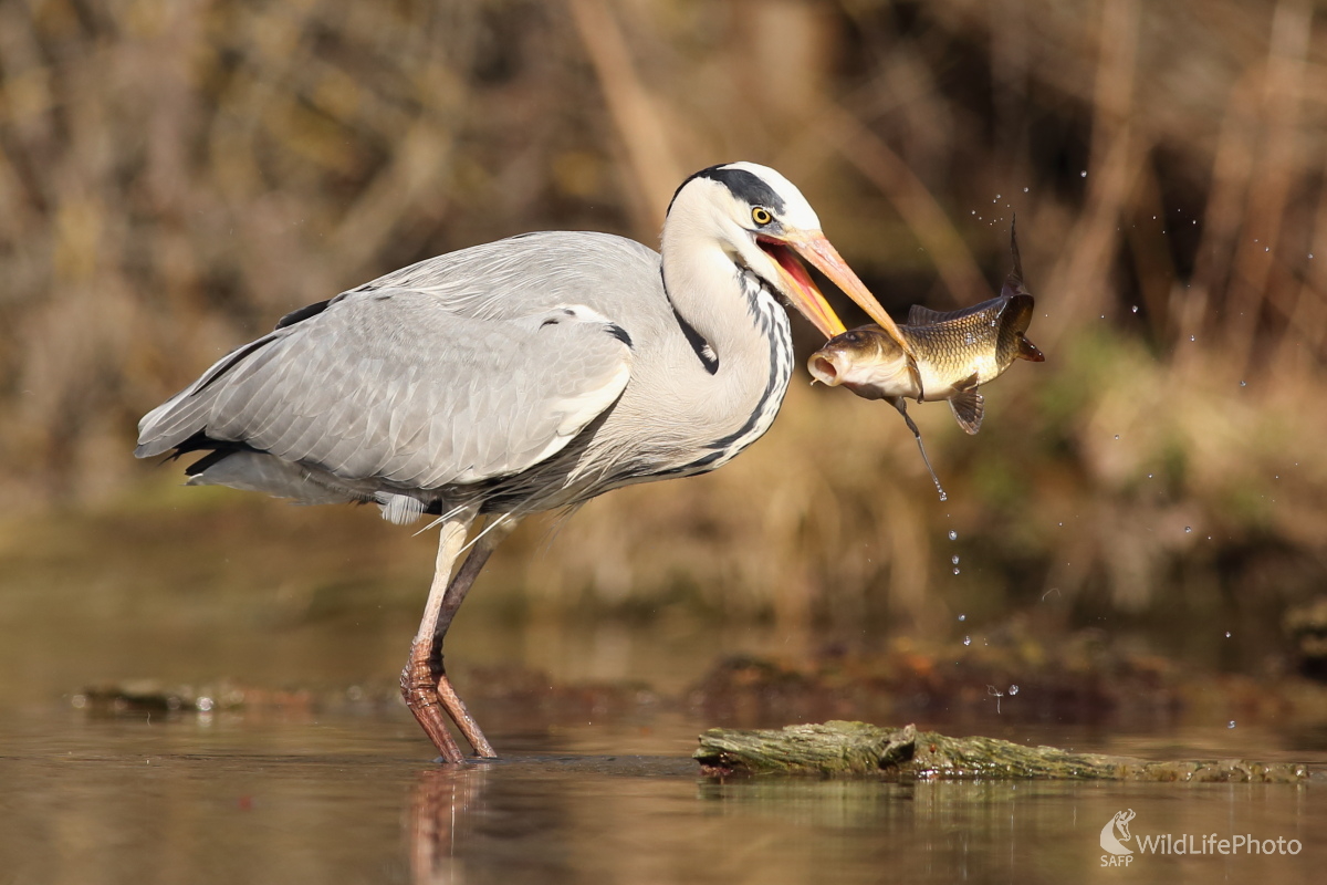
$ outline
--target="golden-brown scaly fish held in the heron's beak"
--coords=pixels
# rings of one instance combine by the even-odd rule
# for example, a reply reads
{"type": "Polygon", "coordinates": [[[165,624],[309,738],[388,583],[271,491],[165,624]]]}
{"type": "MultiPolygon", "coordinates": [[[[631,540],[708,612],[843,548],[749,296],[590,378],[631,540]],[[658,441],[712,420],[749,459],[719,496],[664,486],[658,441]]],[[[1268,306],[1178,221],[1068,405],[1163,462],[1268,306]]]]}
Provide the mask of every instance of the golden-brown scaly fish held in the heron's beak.
{"type": "Polygon", "coordinates": [[[958,426],[975,434],[985,415],[979,387],[1005,374],[1015,360],[1046,360],[1024,334],[1035,300],[1023,284],[1013,224],[1009,234],[1014,269],[998,297],[947,312],[914,304],[906,322],[898,324],[913,356],[877,325],[849,329],[811,354],[812,378],[831,387],[841,385],[865,399],[885,399],[905,418],[905,398],[943,399],[958,426]]]}

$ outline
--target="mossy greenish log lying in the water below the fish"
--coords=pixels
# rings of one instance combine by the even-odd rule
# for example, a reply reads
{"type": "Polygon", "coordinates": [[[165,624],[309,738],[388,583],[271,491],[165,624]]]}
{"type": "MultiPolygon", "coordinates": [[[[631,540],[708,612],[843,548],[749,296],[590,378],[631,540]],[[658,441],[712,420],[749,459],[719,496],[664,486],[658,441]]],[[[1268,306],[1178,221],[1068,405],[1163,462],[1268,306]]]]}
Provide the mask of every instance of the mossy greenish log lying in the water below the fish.
{"type": "Polygon", "coordinates": [[[994,738],[947,738],[916,726],[827,722],[778,730],[711,728],[694,758],[707,775],[812,774],[893,780],[1039,779],[1298,783],[1299,763],[1148,762],[1131,756],[1024,747],[994,738]]]}

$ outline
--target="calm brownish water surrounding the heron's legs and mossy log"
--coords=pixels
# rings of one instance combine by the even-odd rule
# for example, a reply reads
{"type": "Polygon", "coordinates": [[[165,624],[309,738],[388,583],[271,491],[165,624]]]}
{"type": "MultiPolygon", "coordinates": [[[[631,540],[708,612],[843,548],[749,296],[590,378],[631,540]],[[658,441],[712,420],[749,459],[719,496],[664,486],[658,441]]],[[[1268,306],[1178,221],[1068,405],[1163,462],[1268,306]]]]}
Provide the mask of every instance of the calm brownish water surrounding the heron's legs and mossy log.
{"type": "MultiPolygon", "coordinates": [[[[1322,783],[705,779],[689,759],[701,731],[795,716],[707,713],[687,686],[722,655],[794,659],[794,637],[666,612],[636,624],[518,617],[483,586],[458,618],[449,662],[503,758],[441,767],[390,691],[421,576],[324,575],[301,590],[293,560],[245,559],[226,577],[216,549],[171,559],[126,548],[117,560],[66,548],[70,536],[40,568],[11,559],[0,573],[3,882],[1296,882],[1322,869],[1322,783]],[[279,577],[268,582],[263,569],[279,577]],[[549,675],[506,694],[468,690],[503,666],[549,675]],[[218,674],[284,701],[121,715],[73,703],[101,681],[198,685],[218,674]],[[624,682],[650,690],[625,702],[588,687],[545,691],[624,682]],[[1251,833],[1304,851],[1136,854],[1127,872],[1101,870],[1100,831],[1123,809],[1136,812],[1140,836],[1251,833]]],[[[248,544],[234,549],[264,549],[248,544]]],[[[312,547],[279,539],[263,555],[312,547]]],[[[429,555],[425,544],[425,571],[429,555]]],[[[318,559],[344,568],[336,555],[318,559]]],[[[1032,710],[1046,691],[1019,682],[1022,691],[1002,682],[989,703],[934,710],[918,726],[1152,759],[1327,762],[1327,731],[1311,720],[1241,714],[1227,728],[1231,715],[1214,706],[1208,724],[1202,710],[1182,722],[1072,724],[1044,703],[1032,710]]],[[[884,723],[856,707],[841,715],[884,723]]]]}

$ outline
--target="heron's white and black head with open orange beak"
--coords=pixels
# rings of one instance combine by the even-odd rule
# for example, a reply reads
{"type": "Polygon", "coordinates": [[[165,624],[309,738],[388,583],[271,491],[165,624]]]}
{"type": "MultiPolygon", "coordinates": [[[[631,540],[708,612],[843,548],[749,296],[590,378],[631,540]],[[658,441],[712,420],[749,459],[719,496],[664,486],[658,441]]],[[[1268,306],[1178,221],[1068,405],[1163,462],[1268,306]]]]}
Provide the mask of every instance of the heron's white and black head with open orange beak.
{"type": "Polygon", "coordinates": [[[674,215],[683,215],[690,231],[722,244],[730,260],[764,280],[827,338],[844,330],[843,321],[799,259],[815,265],[905,353],[912,353],[898,326],[820,231],[811,203],[775,170],[742,162],[711,166],[691,175],[669,204],[665,248],[674,215]]]}

